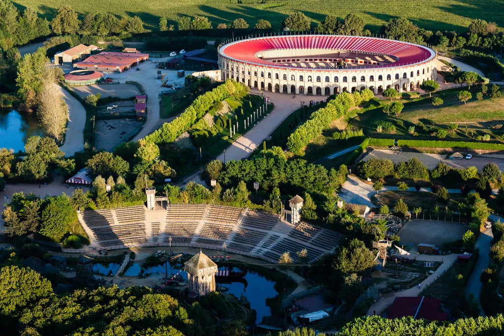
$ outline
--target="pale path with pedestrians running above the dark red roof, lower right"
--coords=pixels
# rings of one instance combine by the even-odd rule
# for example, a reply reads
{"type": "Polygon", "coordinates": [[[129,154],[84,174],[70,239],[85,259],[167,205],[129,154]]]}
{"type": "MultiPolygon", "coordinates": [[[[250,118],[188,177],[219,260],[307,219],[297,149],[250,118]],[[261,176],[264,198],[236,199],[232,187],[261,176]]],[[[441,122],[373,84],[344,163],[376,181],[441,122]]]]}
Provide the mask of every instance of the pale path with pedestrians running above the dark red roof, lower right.
{"type": "Polygon", "coordinates": [[[412,287],[410,289],[407,289],[402,292],[396,292],[396,293],[388,293],[382,295],[382,298],[374,303],[369,310],[367,311],[368,316],[372,316],[374,311],[376,311],[376,315],[382,315],[388,308],[389,306],[394,302],[394,299],[396,297],[404,297],[404,296],[418,296],[421,291],[425,289],[428,285],[430,285],[434,280],[437,279],[438,276],[440,276],[443,272],[448,270],[453,264],[455,260],[457,260],[457,254],[450,254],[450,255],[417,255],[416,257],[417,260],[422,260],[422,261],[441,261],[443,260],[443,263],[437,267],[437,270],[434,271],[434,273],[430,276],[427,277],[424,281],[420,283],[420,288],[417,286],[412,287]]]}

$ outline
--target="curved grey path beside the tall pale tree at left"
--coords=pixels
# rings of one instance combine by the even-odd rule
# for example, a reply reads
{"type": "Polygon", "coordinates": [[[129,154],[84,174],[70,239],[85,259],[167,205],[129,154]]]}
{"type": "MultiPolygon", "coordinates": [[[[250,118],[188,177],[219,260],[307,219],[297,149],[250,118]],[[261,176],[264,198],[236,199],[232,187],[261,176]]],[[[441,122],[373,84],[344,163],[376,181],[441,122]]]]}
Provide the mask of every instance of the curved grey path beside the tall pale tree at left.
{"type": "MultiPolygon", "coordinates": [[[[54,84],[56,85],[56,84],[54,84]]],[[[57,86],[65,98],[68,106],[69,121],[65,135],[65,143],[59,149],[65,156],[73,156],[84,150],[84,125],[86,124],[86,110],[84,106],[64,88],[57,86]]]]}

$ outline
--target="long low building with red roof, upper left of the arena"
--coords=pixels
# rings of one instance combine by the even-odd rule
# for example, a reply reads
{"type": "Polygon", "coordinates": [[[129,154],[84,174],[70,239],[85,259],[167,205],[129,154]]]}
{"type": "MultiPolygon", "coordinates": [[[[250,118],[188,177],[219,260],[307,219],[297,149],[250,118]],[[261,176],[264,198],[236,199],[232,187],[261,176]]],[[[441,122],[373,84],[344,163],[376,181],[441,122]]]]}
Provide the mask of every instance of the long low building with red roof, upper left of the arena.
{"type": "Polygon", "coordinates": [[[122,73],[148,59],[149,54],[102,51],[97,55],[89,56],[81,62],[74,63],[74,68],[95,70],[104,73],[122,73]]]}

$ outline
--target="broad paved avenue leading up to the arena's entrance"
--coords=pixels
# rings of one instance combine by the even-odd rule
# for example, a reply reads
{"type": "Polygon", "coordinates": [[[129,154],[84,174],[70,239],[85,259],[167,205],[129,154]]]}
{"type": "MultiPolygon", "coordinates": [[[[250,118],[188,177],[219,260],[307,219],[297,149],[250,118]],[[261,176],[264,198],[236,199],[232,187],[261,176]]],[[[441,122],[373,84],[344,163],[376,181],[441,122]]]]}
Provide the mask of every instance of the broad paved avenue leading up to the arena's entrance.
{"type": "MultiPolygon", "coordinates": [[[[251,90],[251,92],[259,94],[259,91],[256,90],[251,90]]],[[[273,92],[264,92],[264,95],[270,97],[270,101],[275,104],[275,108],[254,127],[239,137],[231,146],[226,148],[226,161],[247,158],[257,146],[261,145],[270,136],[285,117],[300,106],[300,101],[307,104],[309,100],[322,101],[327,99],[327,96],[304,96],[273,92]]],[[[221,153],[216,159],[224,162],[224,153],[221,153]]],[[[202,183],[199,172],[188,176],[181,183],[185,184],[189,181],[202,183]]]]}

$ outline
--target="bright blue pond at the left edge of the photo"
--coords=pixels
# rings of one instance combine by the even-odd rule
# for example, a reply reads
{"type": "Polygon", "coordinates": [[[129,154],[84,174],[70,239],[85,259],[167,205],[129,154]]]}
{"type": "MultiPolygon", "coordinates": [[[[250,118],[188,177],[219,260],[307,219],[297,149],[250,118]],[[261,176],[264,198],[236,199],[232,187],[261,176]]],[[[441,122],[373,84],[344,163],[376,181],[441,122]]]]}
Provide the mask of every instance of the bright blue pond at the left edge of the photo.
{"type": "Polygon", "coordinates": [[[26,140],[33,136],[44,136],[36,112],[0,109],[0,148],[24,151],[26,140]]]}

